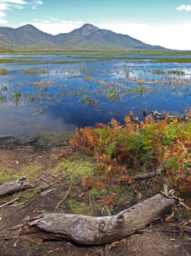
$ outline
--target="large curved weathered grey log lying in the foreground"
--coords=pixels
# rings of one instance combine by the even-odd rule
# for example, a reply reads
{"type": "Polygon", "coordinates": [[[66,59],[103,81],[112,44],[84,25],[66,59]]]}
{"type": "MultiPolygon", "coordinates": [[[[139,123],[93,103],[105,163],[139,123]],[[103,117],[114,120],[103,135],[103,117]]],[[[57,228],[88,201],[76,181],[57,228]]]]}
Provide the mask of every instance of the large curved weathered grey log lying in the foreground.
{"type": "Polygon", "coordinates": [[[32,220],[29,225],[55,233],[81,245],[99,245],[128,236],[165,215],[175,200],[158,194],[117,215],[91,217],[51,213],[32,220]]]}

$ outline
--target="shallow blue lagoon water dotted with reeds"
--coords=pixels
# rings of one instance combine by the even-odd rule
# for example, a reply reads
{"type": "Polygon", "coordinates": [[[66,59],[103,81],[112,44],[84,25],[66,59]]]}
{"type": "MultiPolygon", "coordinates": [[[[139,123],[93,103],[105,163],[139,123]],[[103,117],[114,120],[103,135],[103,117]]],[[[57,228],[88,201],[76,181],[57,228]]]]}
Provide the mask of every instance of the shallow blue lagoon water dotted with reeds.
{"type": "Polygon", "coordinates": [[[0,60],[15,61],[0,64],[0,69],[9,70],[7,75],[0,75],[0,134],[64,132],[108,123],[111,118],[123,121],[130,111],[144,120],[142,108],[147,114],[165,110],[183,115],[181,110],[190,106],[191,63],[158,63],[148,56],[145,60],[75,59],[81,56],[88,55],[0,55],[0,60]],[[28,60],[32,62],[26,63],[28,60]],[[53,64],[59,61],[79,63],[53,64]],[[21,72],[34,67],[48,73],[21,72]],[[171,73],[157,75],[155,69],[171,73]],[[186,75],[173,74],[172,70],[186,75]],[[41,83],[49,81],[54,82],[41,83]]]}

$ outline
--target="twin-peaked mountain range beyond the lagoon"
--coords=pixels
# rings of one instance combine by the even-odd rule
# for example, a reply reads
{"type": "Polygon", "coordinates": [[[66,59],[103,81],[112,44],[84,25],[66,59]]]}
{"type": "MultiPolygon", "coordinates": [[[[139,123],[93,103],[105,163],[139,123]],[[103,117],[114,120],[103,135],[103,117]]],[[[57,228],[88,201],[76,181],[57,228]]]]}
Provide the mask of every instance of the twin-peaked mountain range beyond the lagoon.
{"type": "Polygon", "coordinates": [[[5,48],[16,51],[171,51],[92,24],[56,36],[31,24],[16,29],[0,27],[0,49],[5,48]]]}

